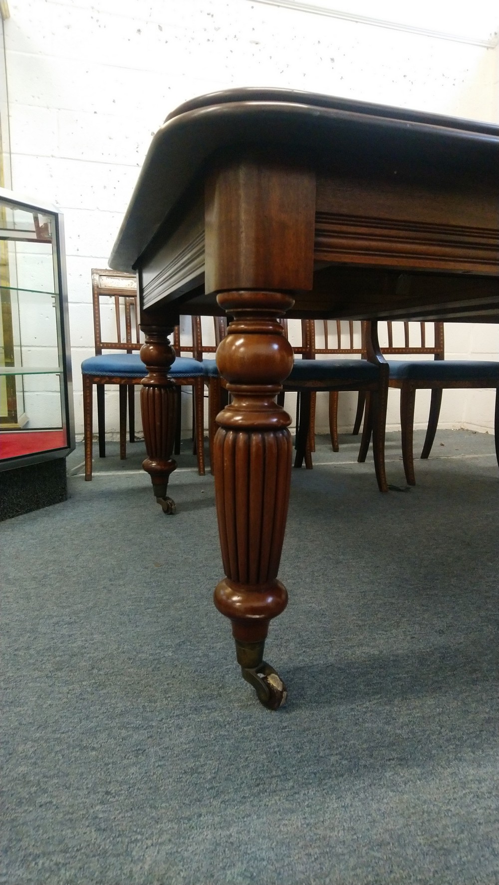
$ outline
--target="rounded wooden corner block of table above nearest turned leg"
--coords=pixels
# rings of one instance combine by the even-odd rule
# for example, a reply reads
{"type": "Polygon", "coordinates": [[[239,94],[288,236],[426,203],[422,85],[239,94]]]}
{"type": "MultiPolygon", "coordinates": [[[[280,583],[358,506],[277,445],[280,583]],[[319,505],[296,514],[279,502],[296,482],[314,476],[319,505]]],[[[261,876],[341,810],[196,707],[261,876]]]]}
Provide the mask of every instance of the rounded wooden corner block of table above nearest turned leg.
{"type": "Polygon", "coordinates": [[[206,291],[311,289],[314,213],[313,173],[265,155],[220,164],[206,182],[206,291]]]}

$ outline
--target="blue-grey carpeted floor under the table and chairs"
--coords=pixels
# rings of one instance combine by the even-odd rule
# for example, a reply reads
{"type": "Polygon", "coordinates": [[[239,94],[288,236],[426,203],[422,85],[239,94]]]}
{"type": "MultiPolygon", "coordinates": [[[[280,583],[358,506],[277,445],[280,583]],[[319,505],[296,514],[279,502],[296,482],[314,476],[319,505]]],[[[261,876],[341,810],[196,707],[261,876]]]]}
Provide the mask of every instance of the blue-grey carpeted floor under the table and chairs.
{"type": "MultiPolygon", "coordinates": [[[[0,526],[1,882],[499,882],[494,437],[437,435],[418,485],[386,496],[357,445],[321,439],[293,473],[279,712],[213,608],[192,456],[175,517],[137,443],[91,483],[79,447],[71,498],[0,526]]],[[[403,489],[396,434],[387,458],[403,489]]]]}

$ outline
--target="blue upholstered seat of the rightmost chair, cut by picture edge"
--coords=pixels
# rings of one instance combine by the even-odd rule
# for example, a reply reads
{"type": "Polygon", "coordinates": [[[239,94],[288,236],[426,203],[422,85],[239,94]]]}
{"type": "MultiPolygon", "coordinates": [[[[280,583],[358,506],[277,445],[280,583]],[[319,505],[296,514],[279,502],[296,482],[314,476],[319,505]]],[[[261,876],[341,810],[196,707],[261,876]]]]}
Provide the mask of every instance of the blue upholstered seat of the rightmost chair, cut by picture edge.
{"type": "Polygon", "coordinates": [[[390,360],[390,379],[394,381],[490,381],[499,384],[499,361],[476,362],[466,359],[425,359],[421,362],[390,360]]]}

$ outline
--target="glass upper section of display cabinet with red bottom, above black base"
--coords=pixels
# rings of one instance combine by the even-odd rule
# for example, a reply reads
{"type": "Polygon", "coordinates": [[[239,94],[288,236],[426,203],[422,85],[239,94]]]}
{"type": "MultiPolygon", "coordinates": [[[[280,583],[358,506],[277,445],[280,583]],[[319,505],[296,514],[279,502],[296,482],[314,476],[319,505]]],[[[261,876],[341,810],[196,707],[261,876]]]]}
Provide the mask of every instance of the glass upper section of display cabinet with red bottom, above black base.
{"type": "Polygon", "coordinates": [[[71,444],[59,235],[57,212],[0,196],[0,462],[71,444]]]}

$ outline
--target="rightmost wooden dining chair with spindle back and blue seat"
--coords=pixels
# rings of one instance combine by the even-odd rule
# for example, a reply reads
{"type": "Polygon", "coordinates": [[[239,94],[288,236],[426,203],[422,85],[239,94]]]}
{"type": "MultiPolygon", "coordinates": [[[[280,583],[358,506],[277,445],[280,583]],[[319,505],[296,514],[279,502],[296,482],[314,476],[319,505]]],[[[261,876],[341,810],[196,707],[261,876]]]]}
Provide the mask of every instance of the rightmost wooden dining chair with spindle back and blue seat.
{"type": "MultiPolygon", "coordinates": [[[[368,326],[378,326],[378,323],[368,326]]],[[[382,351],[378,350],[379,358],[392,355],[414,356],[416,354],[432,355],[432,359],[392,360],[388,359],[390,388],[400,390],[400,423],[402,430],[402,456],[405,479],[410,486],[416,485],[414,473],[414,405],[416,391],[431,390],[430,412],[426,428],[425,443],[421,458],[428,458],[432,450],[438,419],[441,410],[441,396],[444,389],[495,388],[495,455],[499,465],[499,360],[467,360],[446,359],[444,345],[444,327],[442,322],[403,323],[403,346],[397,345],[391,322],[388,326],[388,343],[382,351]],[[411,337],[418,327],[418,342],[411,337]],[[433,341],[428,335],[428,327],[433,327],[433,341]],[[429,340],[430,339],[430,340],[429,340]]],[[[378,334],[372,336],[378,341],[378,334]]],[[[378,344],[379,347],[379,344],[378,344]]],[[[369,421],[367,422],[369,423],[369,421]]],[[[360,447],[359,461],[365,460],[369,448],[369,427],[360,447]]]]}

